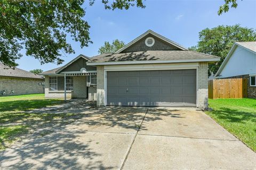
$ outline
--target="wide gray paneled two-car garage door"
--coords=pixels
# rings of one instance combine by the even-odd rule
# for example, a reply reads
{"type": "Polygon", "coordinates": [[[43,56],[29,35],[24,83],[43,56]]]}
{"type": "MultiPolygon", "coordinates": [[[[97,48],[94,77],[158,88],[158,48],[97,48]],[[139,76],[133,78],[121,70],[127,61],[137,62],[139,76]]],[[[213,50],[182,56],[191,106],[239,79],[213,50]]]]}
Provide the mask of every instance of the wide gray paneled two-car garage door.
{"type": "Polygon", "coordinates": [[[107,72],[108,106],[196,106],[196,70],[107,72]]]}

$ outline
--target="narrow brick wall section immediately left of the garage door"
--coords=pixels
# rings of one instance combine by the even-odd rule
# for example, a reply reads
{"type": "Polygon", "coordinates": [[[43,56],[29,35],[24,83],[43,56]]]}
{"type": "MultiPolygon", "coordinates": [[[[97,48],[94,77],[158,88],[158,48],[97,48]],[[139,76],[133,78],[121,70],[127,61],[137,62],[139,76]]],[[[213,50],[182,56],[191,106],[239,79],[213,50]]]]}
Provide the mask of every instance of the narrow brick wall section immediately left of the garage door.
{"type": "Polygon", "coordinates": [[[104,66],[97,66],[97,106],[105,106],[104,66]]]}

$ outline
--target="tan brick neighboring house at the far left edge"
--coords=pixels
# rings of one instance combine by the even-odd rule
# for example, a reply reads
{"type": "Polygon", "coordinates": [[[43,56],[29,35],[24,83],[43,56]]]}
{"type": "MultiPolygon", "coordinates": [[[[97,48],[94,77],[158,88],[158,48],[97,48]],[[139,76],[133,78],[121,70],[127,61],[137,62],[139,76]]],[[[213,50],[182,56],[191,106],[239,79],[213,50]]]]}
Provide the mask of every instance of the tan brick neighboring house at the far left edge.
{"type": "Polygon", "coordinates": [[[40,75],[0,63],[0,96],[42,94],[43,83],[40,75]]]}

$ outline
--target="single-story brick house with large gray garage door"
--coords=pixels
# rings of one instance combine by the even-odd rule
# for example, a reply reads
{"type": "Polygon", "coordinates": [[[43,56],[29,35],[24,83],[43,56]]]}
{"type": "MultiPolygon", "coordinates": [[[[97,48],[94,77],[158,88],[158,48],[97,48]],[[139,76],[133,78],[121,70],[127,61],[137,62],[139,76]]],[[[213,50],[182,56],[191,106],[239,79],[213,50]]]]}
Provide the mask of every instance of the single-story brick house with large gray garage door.
{"type": "Polygon", "coordinates": [[[206,108],[207,65],[219,60],[148,30],[113,54],[79,55],[43,72],[45,97],[88,98],[97,106],[206,108]]]}

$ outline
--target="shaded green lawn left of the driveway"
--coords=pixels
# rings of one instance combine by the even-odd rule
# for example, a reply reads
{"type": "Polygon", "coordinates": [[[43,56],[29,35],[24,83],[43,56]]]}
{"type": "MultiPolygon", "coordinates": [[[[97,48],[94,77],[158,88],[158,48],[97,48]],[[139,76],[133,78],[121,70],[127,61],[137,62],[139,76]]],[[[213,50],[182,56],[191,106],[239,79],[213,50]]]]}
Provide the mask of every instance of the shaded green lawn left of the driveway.
{"type": "Polygon", "coordinates": [[[0,97],[0,150],[54,120],[71,114],[27,113],[29,110],[63,103],[61,99],[45,99],[44,94],[0,97]]]}

